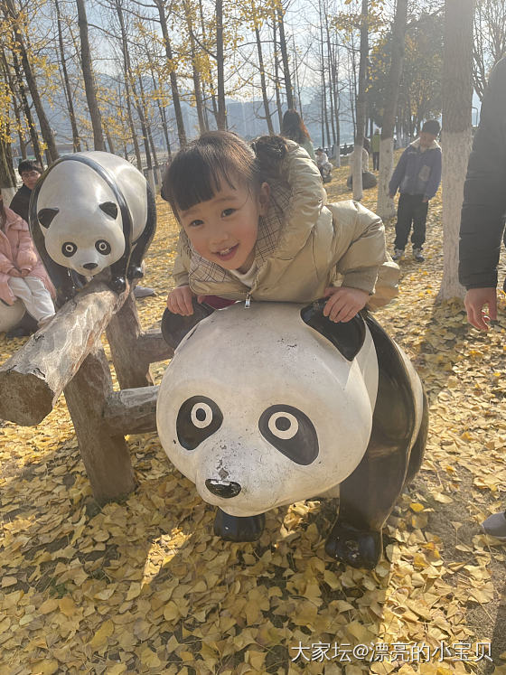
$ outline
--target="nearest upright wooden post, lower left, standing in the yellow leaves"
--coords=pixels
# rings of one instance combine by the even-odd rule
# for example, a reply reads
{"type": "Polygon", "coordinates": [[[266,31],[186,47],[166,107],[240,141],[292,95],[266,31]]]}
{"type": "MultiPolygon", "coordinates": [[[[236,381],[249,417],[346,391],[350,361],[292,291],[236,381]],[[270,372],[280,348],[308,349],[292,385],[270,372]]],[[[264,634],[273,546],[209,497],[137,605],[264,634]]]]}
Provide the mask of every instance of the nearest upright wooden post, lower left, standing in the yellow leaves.
{"type": "Polygon", "coordinates": [[[105,503],[132,492],[136,479],[125,438],[122,434],[111,435],[103,418],[105,402],[113,389],[108,361],[99,343],[64,393],[97,502],[105,503]]]}

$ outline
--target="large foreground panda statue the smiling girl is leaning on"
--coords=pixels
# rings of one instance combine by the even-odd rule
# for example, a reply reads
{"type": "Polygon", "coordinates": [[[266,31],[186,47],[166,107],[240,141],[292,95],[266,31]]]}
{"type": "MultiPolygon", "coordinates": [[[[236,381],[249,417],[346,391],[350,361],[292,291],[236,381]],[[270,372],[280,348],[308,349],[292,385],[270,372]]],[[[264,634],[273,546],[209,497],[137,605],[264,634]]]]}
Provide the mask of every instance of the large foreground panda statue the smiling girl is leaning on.
{"type": "Polygon", "coordinates": [[[179,345],[156,425],[169,459],[218,507],[215,534],[255,540],[266,511],[339,496],[325,550],[372,568],[382,527],[422,461],[426,397],[370,314],[333,323],[324,303],[166,310],[164,337],[179,345]]]}

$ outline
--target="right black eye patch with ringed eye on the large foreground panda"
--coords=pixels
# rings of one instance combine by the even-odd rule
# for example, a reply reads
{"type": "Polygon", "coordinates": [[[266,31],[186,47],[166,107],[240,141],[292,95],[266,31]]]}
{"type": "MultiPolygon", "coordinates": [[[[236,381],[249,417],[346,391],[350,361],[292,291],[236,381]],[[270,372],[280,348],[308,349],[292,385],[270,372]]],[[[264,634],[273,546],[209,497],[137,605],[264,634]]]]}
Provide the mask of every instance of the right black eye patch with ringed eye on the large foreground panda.
{"type": "Polygon", "coordinates": [[[318,456],[318,436],[313,422],[293,406],[271,406],[258,420],[264,438],[295,464],[313,464],[318,456]]]}

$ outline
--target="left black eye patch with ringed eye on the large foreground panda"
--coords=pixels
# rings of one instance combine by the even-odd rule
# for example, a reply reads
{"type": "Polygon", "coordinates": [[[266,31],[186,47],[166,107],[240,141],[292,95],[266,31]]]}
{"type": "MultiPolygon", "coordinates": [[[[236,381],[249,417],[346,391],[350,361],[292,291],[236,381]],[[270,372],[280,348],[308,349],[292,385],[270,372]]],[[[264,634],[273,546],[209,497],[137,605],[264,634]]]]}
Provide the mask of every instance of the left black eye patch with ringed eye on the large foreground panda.
{"type": "Polygon", "coordinates": [[[180,445],[186,450],[194,450],[218,431],[222,422],[221,410],[211,398],[187,398],[177,414],[176,431],[180,445]]]}

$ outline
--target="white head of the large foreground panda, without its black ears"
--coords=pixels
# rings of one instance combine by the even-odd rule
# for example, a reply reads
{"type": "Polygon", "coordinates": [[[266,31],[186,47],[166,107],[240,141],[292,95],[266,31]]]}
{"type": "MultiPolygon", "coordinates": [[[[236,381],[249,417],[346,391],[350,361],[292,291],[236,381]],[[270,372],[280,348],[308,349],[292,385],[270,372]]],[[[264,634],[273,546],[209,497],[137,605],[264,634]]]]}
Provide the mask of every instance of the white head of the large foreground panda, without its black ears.
{"type": "Polygon", "coordinates": [[[378,365],[370,333],[354,361],[300,317],[259,303],[211,314],[160,386],[164,450],[202,499],[251,516],[333,488],[370,438],[378,365]]]}

